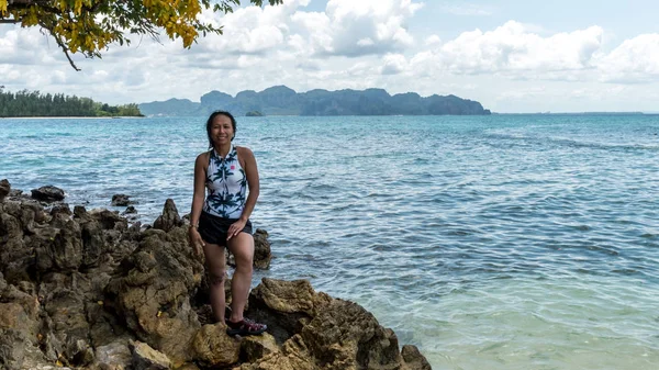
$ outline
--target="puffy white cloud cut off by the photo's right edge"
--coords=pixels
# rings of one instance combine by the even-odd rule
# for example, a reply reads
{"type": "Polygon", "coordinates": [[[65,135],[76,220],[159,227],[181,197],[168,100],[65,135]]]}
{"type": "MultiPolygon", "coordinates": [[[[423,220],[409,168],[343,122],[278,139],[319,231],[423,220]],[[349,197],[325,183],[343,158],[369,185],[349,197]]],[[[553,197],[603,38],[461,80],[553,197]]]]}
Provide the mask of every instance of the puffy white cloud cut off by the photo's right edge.
{"type": "Polygon", "coordinates": [[[597,64],[606,82],[648,83],[659,81],[659,34],[626,40],[597,64]]]}

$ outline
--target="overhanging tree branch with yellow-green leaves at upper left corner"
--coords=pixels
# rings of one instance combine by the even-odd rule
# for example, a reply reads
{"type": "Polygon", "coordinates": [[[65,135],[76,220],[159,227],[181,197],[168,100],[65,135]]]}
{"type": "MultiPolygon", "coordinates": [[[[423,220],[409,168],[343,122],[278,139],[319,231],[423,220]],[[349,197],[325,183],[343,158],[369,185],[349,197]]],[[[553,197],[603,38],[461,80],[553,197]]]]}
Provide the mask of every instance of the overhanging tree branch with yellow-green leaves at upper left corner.
{"type": "MultiPolygon", "coordinates": [[[[260,7],[264,0],[249,2],[260,7]]],[[[283,0],[266,2],[275,5],[283,0]]],[[[239,0],[0,0],[0,23],[40,26],[55,38],[71,67],[80,70],[70,54],[100,58],[112,43],[130,44],[131,34],[158,40],[165,31],[189,48],[200,35],[222,34],[222,26],[199,19],[202,10],[228,13],[239,4],[239,0]]]]}

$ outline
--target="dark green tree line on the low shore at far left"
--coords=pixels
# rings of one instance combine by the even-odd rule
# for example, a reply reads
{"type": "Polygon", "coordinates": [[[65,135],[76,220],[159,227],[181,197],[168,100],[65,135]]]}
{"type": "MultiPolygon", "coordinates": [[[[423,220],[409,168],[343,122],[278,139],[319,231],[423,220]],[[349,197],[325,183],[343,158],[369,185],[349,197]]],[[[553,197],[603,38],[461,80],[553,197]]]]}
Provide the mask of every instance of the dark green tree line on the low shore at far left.
{"type": "Polygon", "coordinates": [[[137,104],[108,105],[89,98],[21,90],[0,86],[0,117],[12,116],[142,116],[137,104]]]}

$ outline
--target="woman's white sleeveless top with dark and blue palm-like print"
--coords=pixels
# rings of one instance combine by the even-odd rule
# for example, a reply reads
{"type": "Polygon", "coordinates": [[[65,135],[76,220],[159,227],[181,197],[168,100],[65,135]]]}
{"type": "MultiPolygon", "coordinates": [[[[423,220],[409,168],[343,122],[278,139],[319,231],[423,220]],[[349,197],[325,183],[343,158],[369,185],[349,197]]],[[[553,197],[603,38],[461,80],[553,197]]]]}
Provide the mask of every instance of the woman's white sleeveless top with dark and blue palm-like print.
{"type": "Polygon", "coordinates": [[[203,211],[224,218],[239,218],[245,208],[247,176],[232,145],[225,158],[211,149],[206,169],[206,199],[203,211]]]}

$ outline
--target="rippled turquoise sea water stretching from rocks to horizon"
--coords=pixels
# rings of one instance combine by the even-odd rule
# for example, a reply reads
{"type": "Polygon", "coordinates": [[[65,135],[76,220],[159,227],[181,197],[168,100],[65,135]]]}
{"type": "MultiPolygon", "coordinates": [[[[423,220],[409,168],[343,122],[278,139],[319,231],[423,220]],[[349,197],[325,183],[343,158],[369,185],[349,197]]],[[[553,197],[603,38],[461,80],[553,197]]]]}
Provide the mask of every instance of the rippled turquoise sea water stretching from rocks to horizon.
{"type": "MultiPolygon", "coordinates": [[[[269,271],[434,369],[659,369],[659,116],[239,117],[269,271]]],[[[69,204],[192,197],[204,117],[0,120],[0,178],[69,204]]],[[[123,211],[122,208],[116,210],[123,211]]]]}

